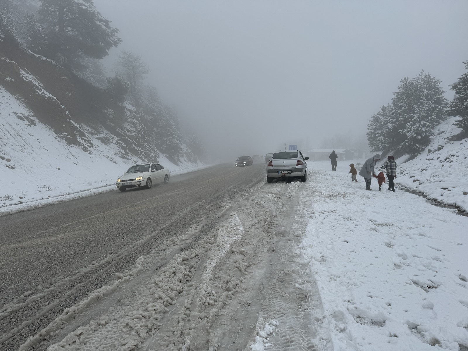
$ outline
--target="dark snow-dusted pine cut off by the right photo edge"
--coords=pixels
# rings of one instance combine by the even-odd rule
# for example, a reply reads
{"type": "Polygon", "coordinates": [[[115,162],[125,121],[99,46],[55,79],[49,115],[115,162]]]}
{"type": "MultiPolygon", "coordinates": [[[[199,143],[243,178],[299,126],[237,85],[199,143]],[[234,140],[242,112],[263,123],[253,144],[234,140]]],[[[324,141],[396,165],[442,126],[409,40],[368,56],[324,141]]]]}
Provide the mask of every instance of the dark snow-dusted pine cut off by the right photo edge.
{"type": "MultiPolygon", "coordinates": [[[[468,61],[463,62],[468,70],[468,61]]],[[[460,117],[455,125],[468,132],[468,71],[450,86],[455,92],[453,100],[448,106],[447,113],[451,116],[460,117]]]]}

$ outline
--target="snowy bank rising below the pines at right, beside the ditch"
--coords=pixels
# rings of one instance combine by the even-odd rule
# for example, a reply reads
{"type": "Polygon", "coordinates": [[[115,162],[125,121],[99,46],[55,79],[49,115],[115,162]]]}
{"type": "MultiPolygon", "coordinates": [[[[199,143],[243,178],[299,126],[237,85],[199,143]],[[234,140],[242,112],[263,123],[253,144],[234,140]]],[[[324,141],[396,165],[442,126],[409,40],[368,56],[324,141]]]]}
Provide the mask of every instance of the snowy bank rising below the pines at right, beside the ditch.
{"type": "Polygon", "coordinates": [[[468,212],[468,139],[453,140],[461,132],[453,125],[455,119],[440,124],[431,144],[415,159],[396,160],[400,167],[395,183],[468,212]]]}

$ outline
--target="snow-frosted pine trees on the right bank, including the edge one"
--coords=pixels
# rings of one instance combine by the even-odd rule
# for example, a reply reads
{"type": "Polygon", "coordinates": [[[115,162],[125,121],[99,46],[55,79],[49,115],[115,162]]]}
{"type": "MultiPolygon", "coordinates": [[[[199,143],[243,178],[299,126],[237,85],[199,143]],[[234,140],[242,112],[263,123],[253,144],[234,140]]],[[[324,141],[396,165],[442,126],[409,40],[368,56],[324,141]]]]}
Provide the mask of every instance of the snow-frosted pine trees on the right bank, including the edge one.
{"type": "MultiPolygon", "coordinates": [[[[468,70],[468,61],[464,62],[468,70]]],[[[441,80],[421,71],[400,81],[391,103],[383,105],[367,124],[367,141],[384,154],[420,154],[431,142],[434,127],[448,116],[460,117],[455,125],[468,135],[468,72],[451,85],[451,102],[440,87],[441,80]]]]}

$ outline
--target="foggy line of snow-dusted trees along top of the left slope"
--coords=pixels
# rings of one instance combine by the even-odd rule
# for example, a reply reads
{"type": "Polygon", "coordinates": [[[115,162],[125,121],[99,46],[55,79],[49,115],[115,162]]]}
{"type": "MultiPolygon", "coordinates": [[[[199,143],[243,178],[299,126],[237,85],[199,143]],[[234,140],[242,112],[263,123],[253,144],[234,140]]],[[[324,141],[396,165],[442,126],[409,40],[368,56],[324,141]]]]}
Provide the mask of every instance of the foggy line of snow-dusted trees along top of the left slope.
{"type": "Polygon", "coordinates": [[[197,136],[184,137],[176,110],[163,104],[155,87],[143,83],[150,70],[140,55],[122,50],[107,76],[101,59],[122,42],[110,23],[92,0],[0,0],[0,42],[13,36],[25,49],[107,90],[115,102],[141,110],[153,121],[164,154],[182,155],[185,143],[204,159],[197,136]]]}

